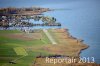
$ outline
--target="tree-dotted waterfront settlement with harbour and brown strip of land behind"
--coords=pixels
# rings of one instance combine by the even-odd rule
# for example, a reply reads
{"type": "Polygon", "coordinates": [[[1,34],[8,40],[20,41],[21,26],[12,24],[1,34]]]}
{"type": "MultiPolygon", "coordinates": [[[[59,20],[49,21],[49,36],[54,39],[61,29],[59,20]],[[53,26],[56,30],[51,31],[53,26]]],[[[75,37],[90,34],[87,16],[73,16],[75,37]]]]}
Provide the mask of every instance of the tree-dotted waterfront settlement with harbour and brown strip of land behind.
{"type": "Polygon", "coordinates": [[[60,23],[56,22],[56,18],[50,16],[43,16],[33,13],[43,13],[50,11],[48,8],[1,8],[1,18],[0,18],[0,27],[5,29],[9,27],[33,27],[33,26],[61,26],[60,23]],[[31,11],[31,12],[30,12],[31,11]],[[25,12],[22,14],[21,12],[25,12]],[[30,13],[30,14],[27,14],[30,13]],[[20,15],[19,15],[20,14],[20,15]],[[30,19],[34,21],[41,20],[42,24],[34,24],[30,22],[30,19]]]}

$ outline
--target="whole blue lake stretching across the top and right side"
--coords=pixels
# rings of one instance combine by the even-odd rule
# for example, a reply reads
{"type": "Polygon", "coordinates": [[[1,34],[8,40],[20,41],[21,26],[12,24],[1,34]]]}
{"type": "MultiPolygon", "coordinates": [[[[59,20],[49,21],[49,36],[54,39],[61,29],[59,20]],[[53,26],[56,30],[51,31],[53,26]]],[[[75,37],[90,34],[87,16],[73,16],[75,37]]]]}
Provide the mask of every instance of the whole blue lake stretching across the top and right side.
{"type": "Polygon", "coordinates": [[[90,47],[82,51],[80,56],[94,57],[95,62],[100,64],[100,0],[3,0],[0,2],[0,7],[33,5],[68,9],[47,12],[45,15],[57,18],[62,28],[68,28],[71,35],[83,39],[90,47]]]}

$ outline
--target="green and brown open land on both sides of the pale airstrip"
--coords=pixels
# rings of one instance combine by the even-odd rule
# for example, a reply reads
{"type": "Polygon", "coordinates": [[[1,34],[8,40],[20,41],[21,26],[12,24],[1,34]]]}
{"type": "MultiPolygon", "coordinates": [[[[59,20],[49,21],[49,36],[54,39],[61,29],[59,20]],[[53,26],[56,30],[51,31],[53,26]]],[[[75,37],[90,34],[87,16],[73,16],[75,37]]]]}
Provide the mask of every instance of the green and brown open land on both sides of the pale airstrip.
{"type": "Polygon", "coordinates": [[[0,30],[0,66],[34,66],[37,56],[79,56],[80,51],[87,48],[82,42],[73,39],[65,29],[46,31],[49,36],[41,29],[35,29],[33,33],[0,30]],[[57,44],[52,44],[50,36],[57,44]]]}

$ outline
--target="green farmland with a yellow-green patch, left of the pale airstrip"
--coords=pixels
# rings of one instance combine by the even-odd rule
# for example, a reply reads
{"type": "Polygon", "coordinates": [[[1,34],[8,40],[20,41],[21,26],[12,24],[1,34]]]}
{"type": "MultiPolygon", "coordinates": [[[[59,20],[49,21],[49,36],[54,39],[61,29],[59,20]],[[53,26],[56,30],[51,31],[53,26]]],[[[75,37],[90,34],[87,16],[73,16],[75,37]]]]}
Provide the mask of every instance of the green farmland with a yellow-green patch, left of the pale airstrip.
{"type": "MultiPolygon", "coordinates": [[[[40,55],[40,53],[48,55],[48,52],[42,51],[39,48],[50,44],[50,41],[42,30],[36,30],[36,33],[42,35],[42,37],[37,37],[41,40],[27,37],[29,36],[28,34],[18,30],[0,30],[0,66],[30,66],[34,62],[35,57],[40,55]],[[31,40],[19,39],[19,34],[31,40]],[[24,55],[25,57],[22,57],[24,55]],[[16,64],[9,63],[14,60],[16,60],[16,64]]],[[[31,34],[31,36],[34,35],[36,34],[31,34]]]]}

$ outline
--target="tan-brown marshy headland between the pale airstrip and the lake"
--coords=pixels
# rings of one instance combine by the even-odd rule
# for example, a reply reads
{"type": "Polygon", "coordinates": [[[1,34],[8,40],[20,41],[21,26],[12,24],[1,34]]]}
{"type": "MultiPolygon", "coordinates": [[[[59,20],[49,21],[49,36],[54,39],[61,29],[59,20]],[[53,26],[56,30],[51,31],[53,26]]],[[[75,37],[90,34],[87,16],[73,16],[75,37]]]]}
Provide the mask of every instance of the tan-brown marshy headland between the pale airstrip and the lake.
{"type": "Polygon", "coordinates": [[[85,50],[89,47],[86,44],[84,44],[83,41],[80,41],[77,38],[71,36],[68,32],[68,29],[56,28],[48,29],[48,31],[51,34],[51,36],[53,36],[57,44],[48,45],[43,47],[42,49],[47,52],[51,52],[51,54],[79,57],[82,50],[85,50]],[[48,50],[46,48],[48,48],[48,50]]]}

